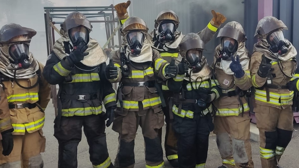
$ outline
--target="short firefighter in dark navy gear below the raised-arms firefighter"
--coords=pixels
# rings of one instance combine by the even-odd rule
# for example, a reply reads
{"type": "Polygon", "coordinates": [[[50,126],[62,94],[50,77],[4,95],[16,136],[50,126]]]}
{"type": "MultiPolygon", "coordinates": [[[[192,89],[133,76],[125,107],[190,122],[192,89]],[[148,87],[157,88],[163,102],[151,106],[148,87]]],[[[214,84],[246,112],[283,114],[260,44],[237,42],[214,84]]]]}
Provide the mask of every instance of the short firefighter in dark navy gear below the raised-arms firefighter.
{"type": "Polygon", "coordinates": [[[177,77],[167,80],[170,91],[170,119],[177,135],[180,168],[204,168],[209,134],[213,131],[212,104],[221,90],[211,80],[212,70],[202,55],[204,41],[198,34],[185,35],[180,44],[177,77]],[[185,59],[187,63],[185,63],[185,59]],[[187,74],[186,74],[187,71],[187,74]],[[172,105],[173,104],[173,105],[172,105]]]}

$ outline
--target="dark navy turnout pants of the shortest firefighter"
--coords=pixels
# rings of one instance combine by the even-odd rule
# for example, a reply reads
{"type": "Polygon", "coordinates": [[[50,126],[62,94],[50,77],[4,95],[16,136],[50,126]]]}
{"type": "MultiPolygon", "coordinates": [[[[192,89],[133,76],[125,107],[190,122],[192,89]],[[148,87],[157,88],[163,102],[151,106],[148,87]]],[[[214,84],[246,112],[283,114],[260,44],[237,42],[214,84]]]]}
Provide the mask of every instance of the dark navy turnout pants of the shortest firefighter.
{"type": "Polygon", "coordinates": [[[208,156],[209,134],[213,131],[211,114],[194,114],[192,119],[174,114],[173,118],[179,168],[204,168],[208,156]]]}

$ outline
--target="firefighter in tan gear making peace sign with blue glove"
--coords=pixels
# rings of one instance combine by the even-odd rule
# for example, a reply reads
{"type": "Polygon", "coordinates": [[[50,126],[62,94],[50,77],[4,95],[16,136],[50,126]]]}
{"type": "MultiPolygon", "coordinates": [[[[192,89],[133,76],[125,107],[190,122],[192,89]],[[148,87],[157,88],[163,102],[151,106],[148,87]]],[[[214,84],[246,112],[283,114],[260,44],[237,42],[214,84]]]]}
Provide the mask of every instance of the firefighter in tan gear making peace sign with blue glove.
{"type": "Polygon", "coordinates": [[[251,87],[247,38],[242,25],[235,21],[224,25],[217,38],[221,44],[215,48],[213,70],[223,93],[213,102],[217,108],[214,133],[223,164],[219,168],[253,168],[249,106],[245,97],[251,87]]]}

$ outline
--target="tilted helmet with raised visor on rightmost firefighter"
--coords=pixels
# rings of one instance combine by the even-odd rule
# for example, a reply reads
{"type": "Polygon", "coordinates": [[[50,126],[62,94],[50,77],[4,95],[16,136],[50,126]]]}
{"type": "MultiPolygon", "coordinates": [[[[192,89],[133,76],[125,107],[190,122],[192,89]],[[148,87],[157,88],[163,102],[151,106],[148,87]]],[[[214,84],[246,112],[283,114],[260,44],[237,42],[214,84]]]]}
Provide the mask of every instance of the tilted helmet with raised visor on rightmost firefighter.
{"type": "Polygon", "coordinates": [[[286,25],[273,16],[266,16],[258,21],[254,37],[259,39],[266,39],[269,33],[277,29],[288,29],[286,25]]]}

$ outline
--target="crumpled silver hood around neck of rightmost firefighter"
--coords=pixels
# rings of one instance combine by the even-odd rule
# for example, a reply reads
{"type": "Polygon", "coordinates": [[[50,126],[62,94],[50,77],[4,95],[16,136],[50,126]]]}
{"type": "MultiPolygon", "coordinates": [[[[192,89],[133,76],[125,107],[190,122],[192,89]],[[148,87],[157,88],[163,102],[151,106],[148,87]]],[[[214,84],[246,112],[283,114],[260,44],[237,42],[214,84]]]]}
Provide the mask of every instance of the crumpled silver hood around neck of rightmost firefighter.
{"type": "Polygon", "coordinates": [[[253,46],[253,52],[258,51],[260,53],[263,53],[265,57],[269,58],[270,60],[277,60],[277,56],[279,60],[282,61],[287,61],[290,60],[297,55],[297,50],[296,48],[292,45],[292,43],[285,39],[285,43],[289,45],[288,47],[288,52],[285,54],[278,54],[278,53],[273,53],[272,51],[269,50],[269,43],[267,42],[266,39],[261,39],[257,43],[254,44],[253,46]]]}

